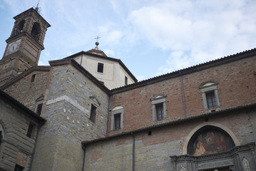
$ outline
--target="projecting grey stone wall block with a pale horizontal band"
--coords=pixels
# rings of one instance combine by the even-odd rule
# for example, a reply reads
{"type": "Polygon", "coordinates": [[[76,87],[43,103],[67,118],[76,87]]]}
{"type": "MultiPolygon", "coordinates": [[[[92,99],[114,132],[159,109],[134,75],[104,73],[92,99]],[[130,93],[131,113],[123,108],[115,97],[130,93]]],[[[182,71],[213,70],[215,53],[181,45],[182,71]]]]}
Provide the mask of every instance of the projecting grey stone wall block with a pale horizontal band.
{"type": "Polygon", "coordinates": [[[81,141],[106,136],[108,94],[71,65],[53,66],[50,77],[42,113],[47,122],[32,169],[81,170],[81,141]],[[90,120],[91,104],[97,108],[96,123],[90,120]]]}

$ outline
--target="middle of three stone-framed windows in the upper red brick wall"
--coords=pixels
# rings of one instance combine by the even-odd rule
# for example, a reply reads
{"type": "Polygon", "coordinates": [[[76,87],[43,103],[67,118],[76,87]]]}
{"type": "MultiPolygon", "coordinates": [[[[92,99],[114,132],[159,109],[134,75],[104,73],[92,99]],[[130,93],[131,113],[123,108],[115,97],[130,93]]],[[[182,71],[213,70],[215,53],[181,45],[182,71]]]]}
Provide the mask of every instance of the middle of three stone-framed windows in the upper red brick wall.
{"type": "Polygon", "coordinates": [[[160,94],[150,98],[152,105],[153,121],[163,120],[166,118],[166,95],[160,94]]]}

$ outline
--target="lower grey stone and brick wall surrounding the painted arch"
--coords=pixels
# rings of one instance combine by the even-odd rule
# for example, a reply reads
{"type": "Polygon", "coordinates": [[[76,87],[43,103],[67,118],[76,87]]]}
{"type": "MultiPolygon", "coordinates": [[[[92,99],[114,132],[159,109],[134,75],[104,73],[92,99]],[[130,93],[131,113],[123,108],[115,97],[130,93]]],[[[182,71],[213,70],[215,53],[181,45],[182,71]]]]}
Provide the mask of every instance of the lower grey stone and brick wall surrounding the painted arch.
{"type": "MultiPolygon", "coordinates": [[[[255,110],[229,113],[219,117],[188,121],[182,124],[134,133],[135,136],[135,170],[173,170],[170,156],[185,155],[185,139],[193,128],[202,123],[225,125],[235,134],[239,145],[255,141],[255,110]],[[253,117],[252,117],[253,116],[253,117]],[[253,118],[253,119],[252,119],[253,118]]],[[[221,128],[221,127],[220,127],[221,128]]],[[[86,146],[85,170],[132,170],[133,136],[126,135],[86,146]]],[[[242,159],[241,159],[242,160],[242,159]]],[[[254,164],[251,165],[253,169],[254,164]]]]}

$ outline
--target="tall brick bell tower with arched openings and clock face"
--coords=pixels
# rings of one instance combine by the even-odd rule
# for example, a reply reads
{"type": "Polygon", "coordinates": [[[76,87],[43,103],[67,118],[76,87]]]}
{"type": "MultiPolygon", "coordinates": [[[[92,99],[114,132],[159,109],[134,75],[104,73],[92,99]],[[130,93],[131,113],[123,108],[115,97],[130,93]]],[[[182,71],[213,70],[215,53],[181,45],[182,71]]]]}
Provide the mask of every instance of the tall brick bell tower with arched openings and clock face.
{"type": "Polygon", "coordinates": [[[39,8],[28,9],[14,16],[14,28],[6,40],[0,61],[0,86],[19,73],[37,66],[46,30],[51,25],[39,14],[39,8]]]}

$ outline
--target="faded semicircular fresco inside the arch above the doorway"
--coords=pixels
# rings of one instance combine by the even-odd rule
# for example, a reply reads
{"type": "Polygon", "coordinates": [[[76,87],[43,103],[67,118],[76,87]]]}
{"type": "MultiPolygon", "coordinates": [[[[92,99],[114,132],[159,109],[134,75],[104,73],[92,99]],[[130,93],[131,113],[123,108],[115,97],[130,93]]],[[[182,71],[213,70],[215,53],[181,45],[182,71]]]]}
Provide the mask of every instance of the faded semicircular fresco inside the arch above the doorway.
{"type": "Polygon", "coordinates": [[[188,155],[208,155],[225,152],[235,147],[235,143],[224,130],[214,126],[200,128],[188,142],[188,155]]]}

